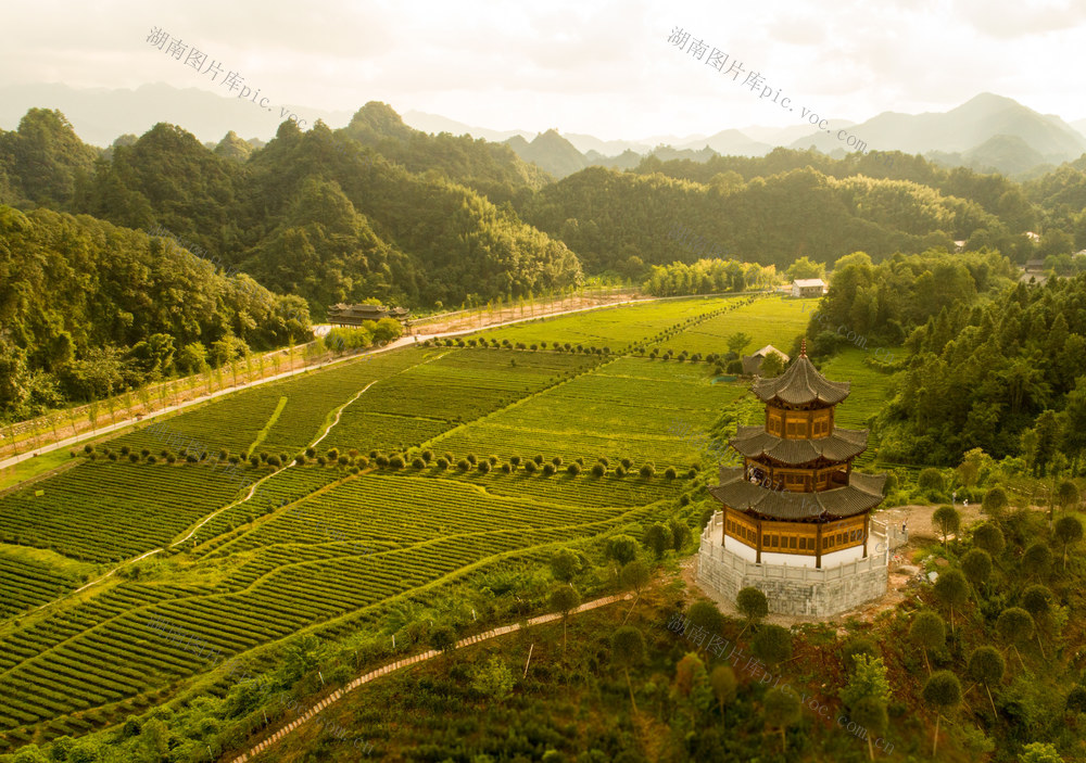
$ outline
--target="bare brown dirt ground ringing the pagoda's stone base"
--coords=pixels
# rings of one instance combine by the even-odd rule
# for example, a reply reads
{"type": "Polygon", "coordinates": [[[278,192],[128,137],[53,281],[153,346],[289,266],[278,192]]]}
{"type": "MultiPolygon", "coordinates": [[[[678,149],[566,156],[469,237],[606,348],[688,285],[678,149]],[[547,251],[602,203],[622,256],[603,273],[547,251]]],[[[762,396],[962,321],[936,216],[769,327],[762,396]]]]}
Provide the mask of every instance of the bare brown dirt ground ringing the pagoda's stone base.
{"type": "MultiPolygon", "coordinates": [[[[849,618],[855,618],[861,622],[873,622],[880,612],[898,607],[910,595],[910,588],[915,585],[915,576],[920,572],[919,568],[912,565],[912,554],[919,550],[924,543],[940,539],[938,533],[932,524],[932,513],[937,506],[896,506],[892,509],[884,509],[874,516],[875,519],[896,524],[900,527],[901,522],[906,522],[909,531],[909,541],[904,546],[899,546],[891,551],[889,561],[889,584],[886,593],[879,599],[869,601],[862,607],[857,607],[847,612],[842,612],[832,619],[832,622],[844,623],[849,618]]],[[[968,525],[982,519],[980,506],[963,507],[957,504],[956,508],[961,513],[962,525],[968,525]]],[[[735,603],[724,599],[715,592],[707,590],[697,584],[697,557],[691,557],[682,564],[681,576],[691,590],[698,590],[717,605],[721,612],[732,616],[742,616],[735,609],[735,603]]],[[[818,618],[803,618],[788,614],[770,614],[766,622],[775,625],[790,627],[799,623],[823,622],[818,618]]],[[[844,633],[844,628],[841,628],[844,633]]]]}

